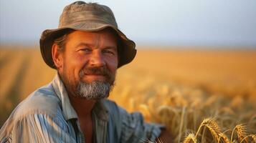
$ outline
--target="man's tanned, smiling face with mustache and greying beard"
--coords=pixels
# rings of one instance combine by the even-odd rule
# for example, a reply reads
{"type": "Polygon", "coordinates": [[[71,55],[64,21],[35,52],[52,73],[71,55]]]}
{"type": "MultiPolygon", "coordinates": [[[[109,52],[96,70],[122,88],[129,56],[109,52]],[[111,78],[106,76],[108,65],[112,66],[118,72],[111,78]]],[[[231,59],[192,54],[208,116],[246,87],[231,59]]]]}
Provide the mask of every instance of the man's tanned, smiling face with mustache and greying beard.
{"type": "Polygon", "coordinates": [[[117,37],[109,30],[67,35],[58,68],[67,92],[75,97],[108,97],[118,67],[117,37]]]}

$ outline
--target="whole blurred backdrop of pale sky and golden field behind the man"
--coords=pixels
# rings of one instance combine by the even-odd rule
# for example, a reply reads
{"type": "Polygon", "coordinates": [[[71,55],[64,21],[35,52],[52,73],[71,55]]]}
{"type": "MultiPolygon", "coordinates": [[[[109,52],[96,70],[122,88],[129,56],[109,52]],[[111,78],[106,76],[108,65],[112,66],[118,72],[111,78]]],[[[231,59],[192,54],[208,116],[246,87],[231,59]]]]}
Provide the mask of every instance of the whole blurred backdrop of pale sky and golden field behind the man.
{"type": "MultiPolygon", "coordinates": [[[[22,99],[52,81],[56,71],[44,64],[39,38],[57,28],[72,2],[0,1],[0,127],[22,99]]],[[[194,130],[205,117],[217,117],[222,129],[253,121],[255,132],[256,1],[87,2],[109,6],[119,29],[137,45],[136,59],[118,69],[110,99],[142,112],[148,122],[167,124],[179,132],[177,141],[190,127],[177,131],[179,125],[170,122],[180,118],[163,119],[163,106],[179,114],[207,109],[196,112],[194,130]]]]}

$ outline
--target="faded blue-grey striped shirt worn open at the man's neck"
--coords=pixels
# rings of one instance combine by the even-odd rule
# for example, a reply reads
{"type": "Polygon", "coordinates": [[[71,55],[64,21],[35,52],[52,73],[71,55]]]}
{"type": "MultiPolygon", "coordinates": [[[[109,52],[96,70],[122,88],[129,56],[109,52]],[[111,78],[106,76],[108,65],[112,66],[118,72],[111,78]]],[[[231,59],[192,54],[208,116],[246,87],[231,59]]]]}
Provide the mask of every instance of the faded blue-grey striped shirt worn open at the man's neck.
{"type": "MultiPolygon", "coordinates": [[[[97,143],[154,142],[161,133],[160,124],[143,122],[140,113],[129,114],[108,99],[96,102],[92,118],[97,143]]],[[[0,142],[85,142],[58,74],[14,109],[1,127],[0,142]]]]}

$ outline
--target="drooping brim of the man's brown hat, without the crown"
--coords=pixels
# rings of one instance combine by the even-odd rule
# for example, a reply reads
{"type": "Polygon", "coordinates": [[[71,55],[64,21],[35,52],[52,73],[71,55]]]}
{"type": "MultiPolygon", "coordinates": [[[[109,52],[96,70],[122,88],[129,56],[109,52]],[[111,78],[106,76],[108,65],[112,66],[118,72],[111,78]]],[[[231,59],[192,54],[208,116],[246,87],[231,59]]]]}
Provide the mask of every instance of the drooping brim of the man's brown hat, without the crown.
{"type": "Polygon", "coordinates": [[[122,31],[109,24],[90,22],[88,24],[82,23],[75,26],[65,26],[59,29],[44,30],[40,39],[40,50],[45,63],[51,68],[56,69],[52,59],[52,44],[54,43],[55,39],[64,35],[67,29],[79,31],[100,31],[106,28],[115,30],[118,36],[120,36],[121,47],[118,47],[118,56],[120,56],[118,60],[118,68],[133,61],[134,57],[136,56],[136,44],[128,39],[122,31]]]}

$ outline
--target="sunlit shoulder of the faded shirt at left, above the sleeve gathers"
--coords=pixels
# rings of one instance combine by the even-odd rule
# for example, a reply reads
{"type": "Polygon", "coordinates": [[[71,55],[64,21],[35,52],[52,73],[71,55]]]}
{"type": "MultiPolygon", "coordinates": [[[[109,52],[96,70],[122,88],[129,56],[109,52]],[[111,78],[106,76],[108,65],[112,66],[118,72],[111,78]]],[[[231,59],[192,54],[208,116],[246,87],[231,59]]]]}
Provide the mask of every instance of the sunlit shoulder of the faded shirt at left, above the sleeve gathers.
{"type": "Polygon", "coordinates": [[[14,109],[11,116],[15,119],[22,119],[29,114],[46,114],[54,117],[57,114],[57,107],[60,106],[60,99],[54,92],[52,84],[41,87],[29,95],[14,109]]]}

